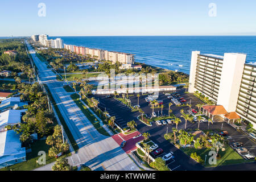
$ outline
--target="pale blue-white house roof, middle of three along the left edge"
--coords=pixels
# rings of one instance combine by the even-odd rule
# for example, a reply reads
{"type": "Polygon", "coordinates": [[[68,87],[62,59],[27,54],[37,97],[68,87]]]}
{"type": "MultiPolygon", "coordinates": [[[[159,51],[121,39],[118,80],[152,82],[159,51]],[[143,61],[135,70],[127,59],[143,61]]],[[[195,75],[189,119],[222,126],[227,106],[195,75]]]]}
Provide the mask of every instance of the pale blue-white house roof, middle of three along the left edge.
{"type": "Polygon", "coordinates": [[[7,110],[0,113],[0,127],[20,123],[20,113],[24,110],[7,110]]]}

